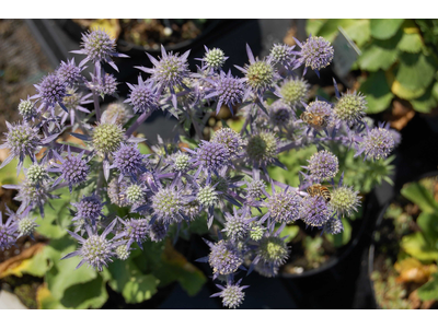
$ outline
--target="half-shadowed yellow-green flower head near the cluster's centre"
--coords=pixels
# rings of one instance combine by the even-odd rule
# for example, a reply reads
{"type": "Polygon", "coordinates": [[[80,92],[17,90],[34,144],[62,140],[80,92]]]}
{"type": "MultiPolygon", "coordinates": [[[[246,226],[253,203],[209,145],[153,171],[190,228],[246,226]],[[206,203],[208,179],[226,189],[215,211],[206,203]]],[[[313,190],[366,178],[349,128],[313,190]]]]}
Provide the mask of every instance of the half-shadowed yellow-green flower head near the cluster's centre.
{"type": "Polygon", "coordinates": [[[246,161],[256,167],[266,167],[278,162],[278,139],[270,131],[251,134],[246,143],[246,161]]]}

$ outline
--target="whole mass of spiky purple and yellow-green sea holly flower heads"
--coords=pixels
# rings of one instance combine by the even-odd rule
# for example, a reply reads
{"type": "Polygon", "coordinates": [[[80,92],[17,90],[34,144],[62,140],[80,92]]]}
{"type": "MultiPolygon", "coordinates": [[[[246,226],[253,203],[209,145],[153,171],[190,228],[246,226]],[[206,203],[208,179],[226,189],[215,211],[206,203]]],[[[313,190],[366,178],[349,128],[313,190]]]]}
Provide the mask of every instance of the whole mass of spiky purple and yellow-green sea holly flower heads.
{"type": "Polygon", "coordinates": [[[200,66],[192,72],[189,51],[180,55],[162,47],[159,58],[148,55],[151,67],[137,67],[147,77],[139,72],[138,84],[127,83],[126,99],[102,112],[101,99],[114,95],[122,83],[102,63],[117,71],[113,58],[127,56],[116,51],[105,32],[85,33],[82,48],[74,52],[87,57],[78,66],[76,59],[62,61],[35,85],[35,95],[21,101],[23,120],[7,122],[1,148],[9,149],[10,156],[2,166],[18,159],[20,172],[25,156],[32,165],[24,168],[19,185],[3,186],[19,191],[22,206],[0,222],[0,248],[32,235],[37,226],[30,219],[33,210],[44,216],[44,206],[66,186],[70,192],[93,190],[71,203],[69,233],[80,246],[65,259],[79,257],[78,267],[87,263],[102,270],[113,260],[126,260],[132,247],[141,248],[148,239],[163,241],[172,225],[180,231],[206,218],[211,231],[221,229],[216,242],[206,241],[210,253],[199,260],[210,265],[214,279],[226,281],[212,296],[238,307],[247,288],[240,285],[239,276],[256,271],[274,277],[287,261],[291,249],[280,236],[286,224],[301,220],[309,229],[337,234],[343,231],[341,218],[360,204],[358,191],[343,185],[338,159],[328,145],[344,144],[357,155],[379,160],[390,154],[397,139],[388,126],[372,127],[364,119],[362,94],[337,92],[334,104],[309,103],[310,85],[293,71],[303,67],[306,74],[308,68],[325,68],[333,47],[314,36],[297,44],[299,51],[274,45],[263,59],[246,45],[249,63],[237,67],[242,77],[222,70],[229,58],[221,49],[206,47],[200,66]],[[89,79],[85,63],[94,67],[89,79]],[[242,130],[222,127],[204,140],[200,118],[222,106],[233,114],[239,110],[242,130]],[[184,126],[188,121],[197,147],[182,143],[180,137],[172,142],[160,138],[153,154],[142,154],[138,143],[145,140],[132,133],[157,109],[181,118],[184,126]],[[90,118],[90,113],[95,116],[90,118]],[[66,134],[80,139],[81,145],[59,142],[66,134]],[[285,167],[279,153],[309,144],[319,151],[300,173],[299,186],[269,177],[268,166],[285,167]],[[106,204],[128,209],[129,214],[106,213],[106,204]]]}

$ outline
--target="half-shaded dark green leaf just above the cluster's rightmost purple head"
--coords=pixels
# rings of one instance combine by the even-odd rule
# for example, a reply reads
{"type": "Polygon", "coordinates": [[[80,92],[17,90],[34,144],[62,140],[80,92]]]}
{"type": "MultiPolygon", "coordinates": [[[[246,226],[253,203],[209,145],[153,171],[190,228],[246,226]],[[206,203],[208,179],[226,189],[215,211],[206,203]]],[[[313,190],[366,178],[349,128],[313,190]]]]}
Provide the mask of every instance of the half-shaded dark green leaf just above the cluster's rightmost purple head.
{"type": "Polygon", "coordinates": [[[359,91],[366,95],[368,114],[376,114],[387,109],[393,98],[393,94],[391,93],[382,70],[371,73],[360,85],[359,91]]]}

